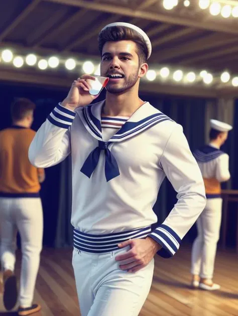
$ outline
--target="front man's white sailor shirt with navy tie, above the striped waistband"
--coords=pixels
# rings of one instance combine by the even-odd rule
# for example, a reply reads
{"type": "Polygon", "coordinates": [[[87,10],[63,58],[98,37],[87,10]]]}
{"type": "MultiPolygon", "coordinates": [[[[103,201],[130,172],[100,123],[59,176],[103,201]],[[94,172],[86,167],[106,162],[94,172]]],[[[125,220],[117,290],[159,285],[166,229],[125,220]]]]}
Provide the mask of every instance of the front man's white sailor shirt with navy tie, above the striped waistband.
{"type": "Polygon", "coordinates": [[[149,236],[162,245],[161,256],[172,256],[206,202],[203,179],[182,127],[147,102],[105,142],[100,125],[103,103],[75,112],[58,105],[38,130],[29,159],[47,168],[71,153],[71,223],[85,239],[156,223],[152,208],[167,176],[178,202],[149,236]]]}

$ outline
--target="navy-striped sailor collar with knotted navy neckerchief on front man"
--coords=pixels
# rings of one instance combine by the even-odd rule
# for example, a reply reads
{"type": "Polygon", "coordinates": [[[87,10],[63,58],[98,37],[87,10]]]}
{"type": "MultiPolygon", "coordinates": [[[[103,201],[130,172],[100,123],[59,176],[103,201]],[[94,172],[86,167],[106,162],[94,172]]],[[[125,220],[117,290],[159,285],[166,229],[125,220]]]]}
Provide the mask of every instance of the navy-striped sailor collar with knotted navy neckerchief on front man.
{"type": "Polygon", "coordinates": [[[107,142],[105,142],[102,139],[101,131],[101,108],[103,104],[104,101],[85,106],[77,111],[84,127],[94,138],[98,140],[98,146],[89,153],[80,171],[90,178],[98,164],[100,152],[101,150],[104,150],[105,177],[108,182],[120,175],[117,162],[109,150],[108,145],[112,142],[123,141],[131,138],[158,123],[171,119],[155,109],[152,105],[150,105],[150,103],[146,102],[107,142]]]}

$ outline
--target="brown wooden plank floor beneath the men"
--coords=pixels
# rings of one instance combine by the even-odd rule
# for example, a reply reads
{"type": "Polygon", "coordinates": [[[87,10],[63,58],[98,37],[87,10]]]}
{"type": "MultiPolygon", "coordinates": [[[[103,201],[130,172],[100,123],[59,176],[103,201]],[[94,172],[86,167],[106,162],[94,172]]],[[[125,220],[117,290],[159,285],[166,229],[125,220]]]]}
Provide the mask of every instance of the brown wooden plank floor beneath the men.
{"type": "MultiPolygon", "coordinates": [[[[182,247],[172,259],[156,257],[153,284],[140,316],[238,315],[237,254],[218,251],[214,281],[221,284],[221,290],[216,292],[190,289],[189,269],[190,248],[182,247]]],[[[71,251],[43,250],[35,301],[42,305],[42,310],[34,314],[36,316],[80,315],[71,251]]],[[[0,294],[0,316],[3,315],[14,316],[17,313],[4,311],[0,294]]]]}

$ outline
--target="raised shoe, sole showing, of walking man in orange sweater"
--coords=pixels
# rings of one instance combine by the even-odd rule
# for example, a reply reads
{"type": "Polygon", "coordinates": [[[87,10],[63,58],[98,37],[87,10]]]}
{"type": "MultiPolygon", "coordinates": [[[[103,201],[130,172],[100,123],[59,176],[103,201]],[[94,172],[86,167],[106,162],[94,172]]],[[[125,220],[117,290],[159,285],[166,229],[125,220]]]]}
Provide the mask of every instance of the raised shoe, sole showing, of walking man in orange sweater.
{"type": "Polygon", "coordinates": [[[4,306],[11,310],[17,303],[18,289],[17,278],[11,270],[4,271],[4,306]]]}

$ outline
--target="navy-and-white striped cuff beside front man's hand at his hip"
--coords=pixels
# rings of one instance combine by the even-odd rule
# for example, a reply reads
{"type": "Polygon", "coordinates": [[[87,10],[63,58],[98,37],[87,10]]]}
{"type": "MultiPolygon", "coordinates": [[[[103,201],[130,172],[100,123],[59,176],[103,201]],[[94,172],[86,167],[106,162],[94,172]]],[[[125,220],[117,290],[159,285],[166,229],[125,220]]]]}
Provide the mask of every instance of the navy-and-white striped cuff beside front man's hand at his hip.
{"type": "Polygon", "coordinates": [[[172,228],[165,224],[157,227],[148,237],[153,238],[163,248],[157,254],[163,258],[172,257],[179,249],[181,238],[173,231],[172,228]]]}

